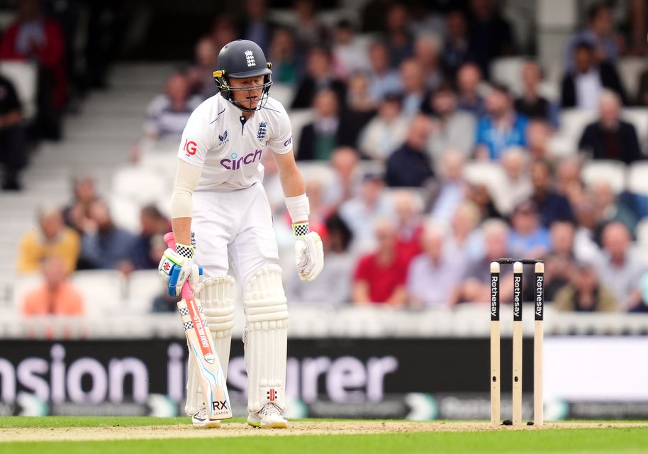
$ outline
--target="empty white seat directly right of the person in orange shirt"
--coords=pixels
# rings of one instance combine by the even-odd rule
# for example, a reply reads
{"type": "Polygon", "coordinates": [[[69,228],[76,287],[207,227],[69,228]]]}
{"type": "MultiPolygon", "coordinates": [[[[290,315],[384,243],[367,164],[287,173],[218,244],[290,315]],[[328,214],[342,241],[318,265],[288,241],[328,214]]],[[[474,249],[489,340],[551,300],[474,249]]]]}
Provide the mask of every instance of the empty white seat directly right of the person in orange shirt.
{"type": "Polygon", "coordinates": [[[72,275],[72,284],[82,294],[86,316],[101,318],[125,314],[128,310],[123,304],[125,285],[121,272],[77,271],[72,275]]]}

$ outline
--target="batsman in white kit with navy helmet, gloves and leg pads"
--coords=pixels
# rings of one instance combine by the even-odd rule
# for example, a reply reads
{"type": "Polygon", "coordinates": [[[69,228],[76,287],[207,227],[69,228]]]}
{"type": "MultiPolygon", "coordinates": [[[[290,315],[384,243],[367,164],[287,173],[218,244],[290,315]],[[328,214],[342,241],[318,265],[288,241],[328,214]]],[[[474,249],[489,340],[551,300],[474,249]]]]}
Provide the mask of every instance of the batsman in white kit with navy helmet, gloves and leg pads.
{"type": "MultiPolygon", "coordinates": [[[[271,153],[279,169],[296,236],[299,277],[313,280],[324,265],[322,241],[308,230],[310,211],[295,164],[292,131],[284,106],[269,96],[272,65],[250,40],[235,40],[218,55],[219,93],[191,114],[178,150],[171,197],[172,226],[180,272],[164,270],[167,288],[189,282],[202,301],[214,348],[227,377],[234,320],[235,281],[245,311],[247,423],[286,428],[284,416],[288,306],[281,282],[272,216],[262,185],[261,157],[271,153]],[[198,265],[203,269],[199,282],[198,265]],[[172,279],[176,282],[170,282],[172,279]]],[[[177,296],[173,294],[172,296],[177,296]]],[[[185,411],[194,427],[218,427],[207,417],[196,366],[189,361],[185,411]]]]}

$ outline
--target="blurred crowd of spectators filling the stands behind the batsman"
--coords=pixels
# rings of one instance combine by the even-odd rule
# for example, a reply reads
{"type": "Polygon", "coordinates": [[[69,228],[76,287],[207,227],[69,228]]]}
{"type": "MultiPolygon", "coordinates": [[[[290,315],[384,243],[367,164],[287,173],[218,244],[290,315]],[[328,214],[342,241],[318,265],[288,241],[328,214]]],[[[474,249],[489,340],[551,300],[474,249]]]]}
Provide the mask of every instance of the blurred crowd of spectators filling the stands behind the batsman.
{"type": "MultiPolygon", "coordinates": [[[[593,4],[564,50],[556,96],[542,94],[545,74],[532,58],[514,92],[491,74],[495,59],[523,47],[497,2],[435,8],[369,1],[358,22],[326,26],[313,1],[296,0],[294,26],[287,26],[270,21],[265,1],[247,0],[249,21],[218,16],[196,43],[194,61],[169,76],[147,110],[144,135],[179,139],[196,104],[216,93],[210,74],[218,50],[235,38],[255,40],[273,62],[274,83],[292,89],[286,109],[313,114],[294,131],[296,159],[327,170],[305,172],[311,228],[324,239],[327,262],[316,282],[286,282],[294,304],[485,303],[489,262],[524,256],[547,262],[547,297],[558,309],[644,311],[648,261],[633,241],[648,199],[615,193],[606,181],[585,184],[581,170],[590,160],[644,159],[648,144],[621,111],[648,106],[648,72],[630,93],[615,64],[645,49],[622,45],[610,6],[593,4]],[[583,129],[578,150],[559,157],[549,137],[561,127],[562,109],[571,108],[596,109],[598,118],[583,129]],[[468,178],[472,162],[496,165],[501,178],[468,178]]],[[[276,169],[266,157],[263,163],[282,231],[289,219],[276,169]]],[[[63,255],[68,270],[125,274],[155,267],[150,253],[168,220],[145,207],[135,238],[84,184],[77,182],[65,216],[43,210],[43,235],[25,238],[21,260],[33,257],[33,269],[38,258],[63,255]]],[[[512,298],[510,279],[505,269],[503,301],[512,298]]],[[[156,310],[169,305],[160,299],[156,310]]]]}

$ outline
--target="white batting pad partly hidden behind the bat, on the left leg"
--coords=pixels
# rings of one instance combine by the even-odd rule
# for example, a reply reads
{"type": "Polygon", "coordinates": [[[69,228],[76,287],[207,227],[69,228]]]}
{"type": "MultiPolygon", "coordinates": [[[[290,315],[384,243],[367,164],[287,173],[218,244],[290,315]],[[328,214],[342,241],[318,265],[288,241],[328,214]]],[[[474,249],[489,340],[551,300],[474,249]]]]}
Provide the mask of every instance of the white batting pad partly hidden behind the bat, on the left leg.
{"type": "MultiPolygon", "coordinates": [[[[203,306],[203,314],[209,326],[214,350],[220,360],[220,367],[223,369],[223,377],[227,380],[234,326],[234,278],[215,276],[206,279],[198,299],[203,306]]],[[[184,406],[184,411],[188,416],[205,406],[199,383],[199,372],[194,362],[194,356],[190,354],[186,382],[186,405],[184,406]]]]}

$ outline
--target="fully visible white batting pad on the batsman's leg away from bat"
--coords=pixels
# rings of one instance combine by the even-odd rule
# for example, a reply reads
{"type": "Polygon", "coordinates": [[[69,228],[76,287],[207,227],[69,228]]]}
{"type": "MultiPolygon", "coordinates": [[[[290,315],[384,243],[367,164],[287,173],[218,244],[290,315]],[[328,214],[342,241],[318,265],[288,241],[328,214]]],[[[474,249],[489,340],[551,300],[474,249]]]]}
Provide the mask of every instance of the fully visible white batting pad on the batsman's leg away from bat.
{"type": "Polygon", "coordinates": [[[267,402],[285,410],[288,305],[279,265],[259,268],[250,277],[243,304],[247,411],[256,413],[267,402]]]}

